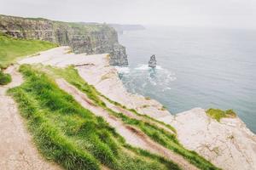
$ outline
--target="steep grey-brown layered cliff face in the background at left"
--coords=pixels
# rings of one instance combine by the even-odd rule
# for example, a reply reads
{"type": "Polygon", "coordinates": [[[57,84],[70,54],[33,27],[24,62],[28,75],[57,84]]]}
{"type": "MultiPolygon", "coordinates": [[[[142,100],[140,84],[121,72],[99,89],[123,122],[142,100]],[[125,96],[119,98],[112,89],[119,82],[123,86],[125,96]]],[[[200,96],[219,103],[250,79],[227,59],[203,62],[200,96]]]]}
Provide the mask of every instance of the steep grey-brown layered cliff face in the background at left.
{"type": "Polygon", "coordinates": [[[0,15],[0,31],[13,37],[67,45],[76,54],[110,54],[110,65],[128,65],[117,32],[104,24],[68,23],[0,15]]]}

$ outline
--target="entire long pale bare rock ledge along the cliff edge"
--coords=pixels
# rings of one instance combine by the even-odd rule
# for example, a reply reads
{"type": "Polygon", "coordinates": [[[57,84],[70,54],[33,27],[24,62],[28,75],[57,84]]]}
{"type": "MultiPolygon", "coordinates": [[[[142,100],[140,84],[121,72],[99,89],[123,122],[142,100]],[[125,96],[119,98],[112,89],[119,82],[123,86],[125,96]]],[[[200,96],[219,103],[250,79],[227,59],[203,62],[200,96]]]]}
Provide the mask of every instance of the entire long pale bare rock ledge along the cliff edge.
{"type": "Polygon", "coordinates": [[[67,54],[67,47],[53,48],[38,56],[22,59],[20,64],[78,65],[86,82],[113,101],[135,109],[177,129],[177,138],[188,149],[197,151],[224,169],[256,168],[256,136],[238,117],[220,122],[207,116],[201,108],[172,116],[158,101],[139,94],[129,94],[119,80],[117,70],[109,65],[108,54],[67,54]]]}

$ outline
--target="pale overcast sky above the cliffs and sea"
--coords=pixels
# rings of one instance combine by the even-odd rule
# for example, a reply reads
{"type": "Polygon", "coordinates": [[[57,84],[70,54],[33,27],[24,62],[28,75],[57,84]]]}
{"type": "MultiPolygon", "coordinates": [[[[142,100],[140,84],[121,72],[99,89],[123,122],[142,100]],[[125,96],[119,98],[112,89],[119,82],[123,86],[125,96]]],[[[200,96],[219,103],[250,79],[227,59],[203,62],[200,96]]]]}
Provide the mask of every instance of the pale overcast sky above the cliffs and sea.
{"type": "Polygon", "coordinates": [[[256,0],[0,0],[0,14],[64,21],[256,28],[256,0]]]}

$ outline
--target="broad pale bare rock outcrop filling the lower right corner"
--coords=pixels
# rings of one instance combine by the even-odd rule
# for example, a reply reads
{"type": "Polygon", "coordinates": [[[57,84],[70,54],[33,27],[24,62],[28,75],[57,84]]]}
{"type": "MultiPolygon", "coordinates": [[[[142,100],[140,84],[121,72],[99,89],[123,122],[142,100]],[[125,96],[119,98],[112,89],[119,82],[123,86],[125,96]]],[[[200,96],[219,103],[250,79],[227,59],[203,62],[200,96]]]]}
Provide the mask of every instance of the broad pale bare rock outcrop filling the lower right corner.
{"type": "Polygon", "coordinates": [[[195,108],[159,121],[171,124],[177,138],[189,150],[195,150],[217,167],[225,170],[256,169],[256,136],[239,117],[220,122],[195,108]]]}

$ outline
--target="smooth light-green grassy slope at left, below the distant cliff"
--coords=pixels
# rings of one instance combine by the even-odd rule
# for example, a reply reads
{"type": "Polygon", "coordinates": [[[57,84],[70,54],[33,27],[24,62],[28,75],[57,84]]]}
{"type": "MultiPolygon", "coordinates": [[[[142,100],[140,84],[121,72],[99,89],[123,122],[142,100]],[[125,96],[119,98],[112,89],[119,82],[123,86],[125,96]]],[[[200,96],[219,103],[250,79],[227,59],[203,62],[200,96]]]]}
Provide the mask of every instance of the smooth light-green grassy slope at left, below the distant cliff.
{"type": "Polygon", "coordinates": [[[6,68],[19,57],[55,47],[52,42],[18,39],[0,33],[0,65],[6,68]]]}

